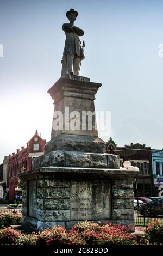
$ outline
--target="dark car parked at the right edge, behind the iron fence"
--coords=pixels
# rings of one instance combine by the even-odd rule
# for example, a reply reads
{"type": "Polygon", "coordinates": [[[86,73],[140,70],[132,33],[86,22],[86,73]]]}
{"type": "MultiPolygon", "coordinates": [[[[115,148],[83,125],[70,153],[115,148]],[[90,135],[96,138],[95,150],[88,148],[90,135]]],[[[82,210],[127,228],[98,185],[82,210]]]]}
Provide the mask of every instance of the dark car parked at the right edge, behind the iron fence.
{"type": "Polygon", "coordinates": [[[163,216],[163,198],[155,198],[151,202],[141,205],[139,213],[145,217],[156,217],[158,215],[163,216]]]}

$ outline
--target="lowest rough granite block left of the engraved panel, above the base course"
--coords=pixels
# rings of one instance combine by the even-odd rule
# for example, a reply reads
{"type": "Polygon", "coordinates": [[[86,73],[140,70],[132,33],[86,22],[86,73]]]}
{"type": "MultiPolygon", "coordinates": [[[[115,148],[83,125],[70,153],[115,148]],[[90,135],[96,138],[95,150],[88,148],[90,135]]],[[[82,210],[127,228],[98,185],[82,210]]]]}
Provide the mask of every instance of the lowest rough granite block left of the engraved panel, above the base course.
{"type": "Polygon", "coordinates": [[[70,210],[36,210],[36,218],[44,222],[70,221],[70,210]]]}

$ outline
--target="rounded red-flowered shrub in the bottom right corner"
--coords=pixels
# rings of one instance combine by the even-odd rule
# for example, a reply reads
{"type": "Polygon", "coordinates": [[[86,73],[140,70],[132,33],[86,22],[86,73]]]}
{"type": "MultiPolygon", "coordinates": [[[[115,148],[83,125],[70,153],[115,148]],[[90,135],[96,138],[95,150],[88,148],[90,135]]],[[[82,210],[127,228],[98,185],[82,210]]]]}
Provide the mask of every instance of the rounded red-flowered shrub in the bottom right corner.
{"type": "Polygon", "coordinates": [[[152,221],[145,232],[149,243],[163,245],[163,220],[152,221]]]}

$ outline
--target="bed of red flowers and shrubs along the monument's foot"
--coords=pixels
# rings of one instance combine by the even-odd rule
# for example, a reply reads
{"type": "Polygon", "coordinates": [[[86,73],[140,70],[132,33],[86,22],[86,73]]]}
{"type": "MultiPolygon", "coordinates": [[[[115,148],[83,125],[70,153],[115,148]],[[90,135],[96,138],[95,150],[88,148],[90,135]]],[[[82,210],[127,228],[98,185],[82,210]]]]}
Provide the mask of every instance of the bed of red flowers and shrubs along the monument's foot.
{"type": "MultiPolygon", "coordinates": [[[[1,245],[137,245],[127,227],[118,224],[84,221],[74,225],[69,232],[64,227],[55,226],[30,234],[7,227],[21,224],[21,218],[21,214],[0,214],[1,245]]],[[[163,245],[163,220],[151,222],[144,231],[146,234],[138,241],[139,244],[163,245]]]]}

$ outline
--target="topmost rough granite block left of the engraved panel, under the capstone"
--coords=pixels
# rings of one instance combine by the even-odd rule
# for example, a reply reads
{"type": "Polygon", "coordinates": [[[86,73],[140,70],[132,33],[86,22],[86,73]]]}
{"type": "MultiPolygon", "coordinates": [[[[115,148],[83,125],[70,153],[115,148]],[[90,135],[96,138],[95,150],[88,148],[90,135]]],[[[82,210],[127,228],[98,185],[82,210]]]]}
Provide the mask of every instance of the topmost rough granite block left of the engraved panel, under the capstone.
{"type": "Polygon", "coordinates": [[[60,187],[60,188],[68,188],[70,187],[70,182],[67,180],[59,180],[59,179],[41,179],[37,181],[37,187],[60,187]]]}

